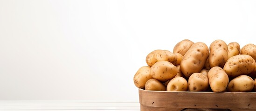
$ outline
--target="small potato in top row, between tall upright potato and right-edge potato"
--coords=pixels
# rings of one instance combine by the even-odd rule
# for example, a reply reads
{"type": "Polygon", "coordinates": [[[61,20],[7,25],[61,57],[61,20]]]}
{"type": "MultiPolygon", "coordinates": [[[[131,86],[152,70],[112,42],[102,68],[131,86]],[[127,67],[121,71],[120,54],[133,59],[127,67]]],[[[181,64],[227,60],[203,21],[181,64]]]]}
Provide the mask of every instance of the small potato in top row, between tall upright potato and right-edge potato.
{"type": "Polygon", "coordinates": [[[239,43],[232,42],[228,43],[228,59],[232,56],[236,56],[240,54],[240,45],[239,43]]]}

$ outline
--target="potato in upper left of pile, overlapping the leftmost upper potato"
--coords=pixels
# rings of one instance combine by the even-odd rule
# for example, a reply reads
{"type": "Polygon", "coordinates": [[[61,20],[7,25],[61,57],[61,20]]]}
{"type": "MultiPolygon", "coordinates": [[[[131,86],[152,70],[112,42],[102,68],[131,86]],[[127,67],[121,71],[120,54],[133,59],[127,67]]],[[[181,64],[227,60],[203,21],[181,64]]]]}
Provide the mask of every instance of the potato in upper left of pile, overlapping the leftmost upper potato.
{"type": "Polygon", "coordinates": [[[173,54],[172,52],[168,50],[160,50],[156,54],[157,61],[168,61],[171,63],[174,63],[177,61],[177,55],[173,54]]]}

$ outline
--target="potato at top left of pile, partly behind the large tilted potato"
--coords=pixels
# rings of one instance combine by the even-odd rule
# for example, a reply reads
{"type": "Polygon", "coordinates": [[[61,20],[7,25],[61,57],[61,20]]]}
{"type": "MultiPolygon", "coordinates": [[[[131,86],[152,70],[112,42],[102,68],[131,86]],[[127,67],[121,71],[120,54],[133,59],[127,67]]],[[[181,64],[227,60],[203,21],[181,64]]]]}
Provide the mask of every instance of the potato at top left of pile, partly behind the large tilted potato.
{"type": "Polygon", "coordinates": [[[185,55],[188,49],[194,44],[194,42],[184,39],[177,43],[173,48],[173,53],[180,53],[182,56],[185,55]]]}

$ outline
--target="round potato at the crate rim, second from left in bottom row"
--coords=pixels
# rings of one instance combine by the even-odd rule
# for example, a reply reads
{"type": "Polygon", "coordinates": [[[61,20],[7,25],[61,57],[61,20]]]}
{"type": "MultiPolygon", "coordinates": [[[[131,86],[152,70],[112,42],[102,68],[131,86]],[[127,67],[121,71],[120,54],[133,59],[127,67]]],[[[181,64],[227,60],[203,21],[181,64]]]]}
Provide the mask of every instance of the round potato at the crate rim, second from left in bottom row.
{"type": "Polygon", "coordinates": [[[166,91],[187,91],[187,80],[183,77],[175,77],[169,81],[166,91]]]}

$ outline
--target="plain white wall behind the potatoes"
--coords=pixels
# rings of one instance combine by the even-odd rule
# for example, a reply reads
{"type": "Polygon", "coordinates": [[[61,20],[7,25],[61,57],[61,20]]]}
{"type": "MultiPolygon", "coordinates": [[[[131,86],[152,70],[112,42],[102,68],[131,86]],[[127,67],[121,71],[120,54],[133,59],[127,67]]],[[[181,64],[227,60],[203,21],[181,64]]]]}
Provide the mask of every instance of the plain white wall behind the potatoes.
{"type": "Polygon", "coordinates": [[[255,0],[0,0],[0,100],[138,102],[152,50],[255,37],[255,0]]]}

